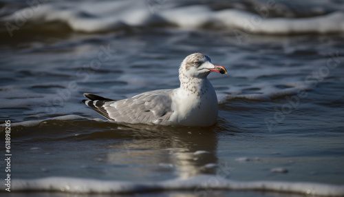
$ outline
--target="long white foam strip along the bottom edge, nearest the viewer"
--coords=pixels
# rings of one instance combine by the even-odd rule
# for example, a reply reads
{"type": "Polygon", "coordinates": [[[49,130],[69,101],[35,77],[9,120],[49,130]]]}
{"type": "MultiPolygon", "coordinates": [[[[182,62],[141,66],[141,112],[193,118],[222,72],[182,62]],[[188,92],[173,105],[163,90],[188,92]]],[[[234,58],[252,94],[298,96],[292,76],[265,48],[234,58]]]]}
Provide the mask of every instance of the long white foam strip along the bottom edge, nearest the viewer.
{"type": "MultiPolygon", "coordinates": [[[[217,176],[197,176],[189,179],[174,179],[156,182],[135,183],[119,180],[94,180],[83,178],[50,177],[32,180],[12,180],[12,192],[48,191],[74,194],[141,194],[149,191],[275,191],[290,194],[312,194],[314,196],[343,196],[344,185],[282,181],[236,181],[217,176]]],[[[2,185],[1,187],[5,187],[2,185]]]]}

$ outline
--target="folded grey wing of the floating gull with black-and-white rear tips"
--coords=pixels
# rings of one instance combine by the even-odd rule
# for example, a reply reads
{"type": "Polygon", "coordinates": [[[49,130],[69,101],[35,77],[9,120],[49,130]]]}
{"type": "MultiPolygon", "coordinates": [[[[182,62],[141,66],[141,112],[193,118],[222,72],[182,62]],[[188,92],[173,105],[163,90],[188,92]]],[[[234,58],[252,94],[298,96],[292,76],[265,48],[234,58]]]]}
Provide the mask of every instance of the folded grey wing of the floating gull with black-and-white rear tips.
{"type": "Polygon", "coordinates": [[[169,121],[172,90],[144,92],[120,101],[89,101],[96,112],[117,123],[163,124],[169,121]],[[96,108],[96,109],[95,109],[96,108]]]}

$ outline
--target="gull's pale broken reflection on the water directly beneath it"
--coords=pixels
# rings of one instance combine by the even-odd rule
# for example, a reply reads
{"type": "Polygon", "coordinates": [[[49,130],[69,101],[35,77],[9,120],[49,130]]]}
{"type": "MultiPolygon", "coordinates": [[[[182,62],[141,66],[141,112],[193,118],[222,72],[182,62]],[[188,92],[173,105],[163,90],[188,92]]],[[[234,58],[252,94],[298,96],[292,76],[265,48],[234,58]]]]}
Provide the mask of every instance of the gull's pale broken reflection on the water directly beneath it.
{"type": "Polygon", "coordinates": [[[149,176],[152,169],[174,171],[178,178],[214,174],[218,134],[238,132],[237,127],[225,121],[218,121],[214,127],[130,125],[118,129],[122,131],[121,138],[127,140],[110,145],[108,163],[147,167],[144,176],[149,176]]]}

